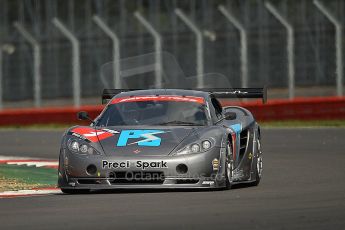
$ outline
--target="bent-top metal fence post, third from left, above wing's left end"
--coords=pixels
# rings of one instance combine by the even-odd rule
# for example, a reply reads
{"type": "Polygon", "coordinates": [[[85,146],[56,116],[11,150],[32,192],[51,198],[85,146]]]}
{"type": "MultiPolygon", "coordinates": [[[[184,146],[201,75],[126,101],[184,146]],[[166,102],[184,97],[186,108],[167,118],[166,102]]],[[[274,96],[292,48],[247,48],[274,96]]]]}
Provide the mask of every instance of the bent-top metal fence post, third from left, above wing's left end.
{"type": "Polygon", "coordinates": [[[113,69],[114,69],[114,87],[121,89],[120,75],[120,41],[114,31],[97,15],[93,16],[93,21],[113,42],[113,69]]]}

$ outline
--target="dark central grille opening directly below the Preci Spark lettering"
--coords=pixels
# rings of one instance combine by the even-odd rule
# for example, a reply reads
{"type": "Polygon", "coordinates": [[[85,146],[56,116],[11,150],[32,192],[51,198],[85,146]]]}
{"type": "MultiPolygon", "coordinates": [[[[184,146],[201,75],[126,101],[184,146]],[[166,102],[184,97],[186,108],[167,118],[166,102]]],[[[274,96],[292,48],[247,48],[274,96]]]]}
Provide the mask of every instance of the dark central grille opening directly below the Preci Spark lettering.
{"type": "Polygon", "coordinates": [[[112,172],[109,174],[111,184],[163,184],[163,172],[112,172]]]}

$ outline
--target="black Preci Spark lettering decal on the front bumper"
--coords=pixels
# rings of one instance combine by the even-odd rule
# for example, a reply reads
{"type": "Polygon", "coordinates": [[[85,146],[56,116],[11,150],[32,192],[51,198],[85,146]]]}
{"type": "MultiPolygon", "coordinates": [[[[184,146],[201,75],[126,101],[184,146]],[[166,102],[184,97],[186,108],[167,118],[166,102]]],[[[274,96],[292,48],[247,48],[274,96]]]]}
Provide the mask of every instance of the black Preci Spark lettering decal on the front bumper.
{"type": "Polygon", "coordinates": [[[168,168],[166,161],[107,161],[102,160],[103,169],[128,169],[135,167],[141,170],[145,169],[164,169],[168,168]]]}

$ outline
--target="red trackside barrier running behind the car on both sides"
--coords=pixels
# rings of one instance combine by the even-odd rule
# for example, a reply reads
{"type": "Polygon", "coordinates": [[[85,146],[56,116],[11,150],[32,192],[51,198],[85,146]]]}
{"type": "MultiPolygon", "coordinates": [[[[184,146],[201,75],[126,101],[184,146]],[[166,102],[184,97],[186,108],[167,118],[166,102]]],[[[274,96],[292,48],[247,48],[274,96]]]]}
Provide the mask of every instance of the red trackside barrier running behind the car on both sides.
{"type": "MultiPolygon", "coordinates": [[[[222,103],[224,106],[231,105],[222,103]]],[[[345,97],[298,98],[295,100],[271,100],[244,102],[240,106],[249,109],[259,121],[277,120],[325,120],[345,119],[345,97]]],[[[0,126],[33,124],[81,124],[77,120],[78,111],[87,111],[95,118],[103,106],[8,109],[0,112],[0,126]]]]}

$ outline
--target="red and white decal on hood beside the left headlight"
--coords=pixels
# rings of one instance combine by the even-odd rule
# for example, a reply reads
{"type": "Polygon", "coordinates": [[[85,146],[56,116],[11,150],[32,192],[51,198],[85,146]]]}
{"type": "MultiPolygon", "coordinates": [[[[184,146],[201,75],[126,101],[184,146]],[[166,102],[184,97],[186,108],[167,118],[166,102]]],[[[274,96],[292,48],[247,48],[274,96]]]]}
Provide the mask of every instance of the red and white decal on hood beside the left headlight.
{"type": "Polygon", "coordinates": [[[116,130],[110,129],[94,129],[89,127],[77,127],[71,130],[72,135],[83,140],[89,140],[91,142],[98,142],[103,139],[114,136],[119,133],[116,130]]]}

